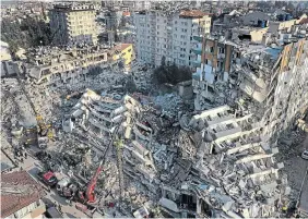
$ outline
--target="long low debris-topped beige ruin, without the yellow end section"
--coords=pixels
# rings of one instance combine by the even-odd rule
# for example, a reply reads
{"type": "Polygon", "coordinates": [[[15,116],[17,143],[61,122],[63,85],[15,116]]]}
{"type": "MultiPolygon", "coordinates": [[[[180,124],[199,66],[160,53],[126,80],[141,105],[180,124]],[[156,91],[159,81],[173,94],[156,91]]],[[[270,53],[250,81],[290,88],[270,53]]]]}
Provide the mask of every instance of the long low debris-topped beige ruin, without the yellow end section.
{"type": "Polygon", "coordinates": [[[106,68],[107,51],[95,48],[43,48],[28,56],[28,62],[24,63],[25,74],[37,84],[73,83],[85,81],[86,74],[94,66],[106,68]]]}

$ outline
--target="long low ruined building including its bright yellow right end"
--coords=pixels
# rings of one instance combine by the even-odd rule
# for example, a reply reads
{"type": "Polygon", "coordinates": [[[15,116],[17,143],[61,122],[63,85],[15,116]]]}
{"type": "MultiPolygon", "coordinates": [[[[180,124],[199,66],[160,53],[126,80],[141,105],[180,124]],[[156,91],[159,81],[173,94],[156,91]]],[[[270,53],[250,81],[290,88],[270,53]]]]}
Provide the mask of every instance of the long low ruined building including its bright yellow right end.
{"type": "Polygon", "coordinates": [[[87,75],[100,70],[128,68],[134,59],[132,45],[122,44],[108,49],[94,47],[42,47],[27,53],[27,60],[20,65],[20,72],[36,84],[52,86],[74,85],[87,81],[87,75]]]}

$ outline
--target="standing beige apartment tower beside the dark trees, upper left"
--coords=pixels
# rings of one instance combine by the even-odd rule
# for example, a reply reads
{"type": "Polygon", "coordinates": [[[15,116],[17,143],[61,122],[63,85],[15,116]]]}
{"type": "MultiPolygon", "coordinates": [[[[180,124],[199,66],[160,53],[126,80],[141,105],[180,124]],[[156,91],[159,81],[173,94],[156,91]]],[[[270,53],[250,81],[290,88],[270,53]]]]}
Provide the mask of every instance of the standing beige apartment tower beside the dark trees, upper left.
{"type": "Polygon", "coordinates": [[[49,12],[50,28],[56,45],[97,42],[95,10],[92,5],[60,5],[49,12]]]}

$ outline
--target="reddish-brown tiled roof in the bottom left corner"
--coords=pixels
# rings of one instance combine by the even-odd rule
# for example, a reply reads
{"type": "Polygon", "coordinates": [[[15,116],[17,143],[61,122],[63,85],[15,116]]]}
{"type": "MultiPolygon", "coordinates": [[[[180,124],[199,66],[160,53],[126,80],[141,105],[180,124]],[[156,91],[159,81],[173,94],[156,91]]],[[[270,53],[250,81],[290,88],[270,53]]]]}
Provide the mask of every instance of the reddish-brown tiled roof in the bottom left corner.
{"type": "Polygon", "coordinates": [[[44,197],[43,187],[26,172],[1,174],[1,218],[44,197]]]}

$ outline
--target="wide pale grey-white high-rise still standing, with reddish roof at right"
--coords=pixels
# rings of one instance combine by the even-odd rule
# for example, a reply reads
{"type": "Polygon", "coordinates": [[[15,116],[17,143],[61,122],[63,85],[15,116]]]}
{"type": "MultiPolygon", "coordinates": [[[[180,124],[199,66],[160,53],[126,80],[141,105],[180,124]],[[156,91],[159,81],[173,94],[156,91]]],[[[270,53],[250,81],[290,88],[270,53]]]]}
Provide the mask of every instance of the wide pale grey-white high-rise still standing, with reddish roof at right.
{"type": "Polygon", "coordinates": [[[198,10],[143,11],[134,14],[137,59],[159,65],[166,62],[193,66],[193,36],[210,34],[211,16],[198,10]]]}

